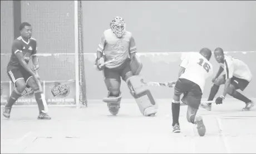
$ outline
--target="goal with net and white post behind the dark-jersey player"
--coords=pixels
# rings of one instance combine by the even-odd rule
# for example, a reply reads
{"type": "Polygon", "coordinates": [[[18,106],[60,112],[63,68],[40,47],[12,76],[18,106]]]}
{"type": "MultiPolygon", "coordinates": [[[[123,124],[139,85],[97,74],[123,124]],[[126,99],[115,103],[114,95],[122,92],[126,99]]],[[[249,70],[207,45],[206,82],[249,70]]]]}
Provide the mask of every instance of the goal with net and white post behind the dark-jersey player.
{"type": "MultiPolygon", "coordinates": [[[[37,40],[38,73],[49,105],[87,106],[81,14],[81,1],[21,1],[21,21],[32,24],[37,40]]],[[[8,18],[1,13],[1,21],[8,18]]],[[[11,43],[1,43],[1,105],[13,90],[6,73],[11,43]]],[[[16,105],[32,104],[33,91],[26,88],[16,105]]]]}

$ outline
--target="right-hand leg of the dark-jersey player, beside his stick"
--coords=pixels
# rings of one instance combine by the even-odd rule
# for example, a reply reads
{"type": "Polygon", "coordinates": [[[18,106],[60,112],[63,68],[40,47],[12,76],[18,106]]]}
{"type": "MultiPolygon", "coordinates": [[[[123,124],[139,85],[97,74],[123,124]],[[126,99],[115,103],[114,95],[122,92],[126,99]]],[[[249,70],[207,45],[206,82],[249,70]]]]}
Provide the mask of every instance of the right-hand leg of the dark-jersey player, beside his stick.
{"type": "MultiPolygon", "coordinates": [[[[51,120],[51,117],[42,111],[45,111],[45,105],[43,105],[42,97],[41,97],[41,91],[39,89],[39,86],[37,85],[36,81],[34,80],[33,76],[29,74],[26,70],[22,71],[22,74],[24,76],[24,79],[26,81],[27,87],[31,87],[31,89],[34,91],[36,102],[38,105],[39,115],[38,119],[40,120],[51,120]]],[[[43,98],[45,99],[45,98],[43,98]]]]}

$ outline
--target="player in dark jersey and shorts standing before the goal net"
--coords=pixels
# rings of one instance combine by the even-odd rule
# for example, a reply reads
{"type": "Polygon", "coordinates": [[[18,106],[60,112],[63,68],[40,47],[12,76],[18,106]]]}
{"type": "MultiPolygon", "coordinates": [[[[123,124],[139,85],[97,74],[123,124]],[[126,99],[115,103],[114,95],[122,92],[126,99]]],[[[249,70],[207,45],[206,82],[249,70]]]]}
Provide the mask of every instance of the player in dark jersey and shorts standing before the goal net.
{"type": "Polygon", "coordinates": [[[27,22],[21,23],[19,26],[21,36],[16,38],[12,43],[12,56],[7,66],[7,73],[15,88],[9,97],[7,105],[3,108],[3,116],[10,117],[11,109],[16,100],[21,97],[26,87],[31,87],[35,93],[37,105],[39,108],[38,119],[50,120],[51,117],[44,113],[45,106],[42,102],[41,91],[37,85],[40,77],[34,72],[39,68],[36,39],[31,38],[32,27],[27,22]],[[28,62],[32,57],[33,67],[29,68],[28,62]]]}

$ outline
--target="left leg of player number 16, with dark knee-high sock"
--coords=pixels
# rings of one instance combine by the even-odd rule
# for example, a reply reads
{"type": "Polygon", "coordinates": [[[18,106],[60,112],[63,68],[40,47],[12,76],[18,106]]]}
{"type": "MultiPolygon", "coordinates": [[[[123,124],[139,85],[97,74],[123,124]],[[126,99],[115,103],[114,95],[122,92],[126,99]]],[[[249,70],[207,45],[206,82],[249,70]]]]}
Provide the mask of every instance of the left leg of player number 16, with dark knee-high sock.
{"type": "MultiPolygon", "coordinates": [[[[174,87],[174,96],[173,101],[171,102],[171,111],[173,114],[173,132],[179,133],[180,132],[180,123],[179,123],[179,116],[180,116],[180,95],[188,92],[191,88],[189,85],[188,80],[184,78],[179,78],[176,82],[174,87]]],[[[183,101],[186,103],[185,98],[187,95],[184,95],[183,101]]]]}

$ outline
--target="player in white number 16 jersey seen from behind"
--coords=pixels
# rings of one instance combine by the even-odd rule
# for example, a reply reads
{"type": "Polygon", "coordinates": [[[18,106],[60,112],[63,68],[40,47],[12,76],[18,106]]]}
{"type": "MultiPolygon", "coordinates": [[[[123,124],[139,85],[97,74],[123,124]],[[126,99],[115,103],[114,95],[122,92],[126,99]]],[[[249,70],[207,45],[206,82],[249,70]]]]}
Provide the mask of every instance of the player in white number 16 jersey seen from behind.
{"type": "Polygon", "coordinates": [[[188,105],[186,113],[188,122],[197,126],[200,136],[205,135],[206,129],[203,118],[196,115],[196,112],[201,103],[205,80],[213,74],[213,66],[209,62],[210,57],[210,49],[203,48],[199,53],[188,54],[180,64],[179,79],[176,82],[174,97],[171,103],[174,133],[180,132],[180,95],[183,94],[184,97],[181,101],[188,105]]]}

